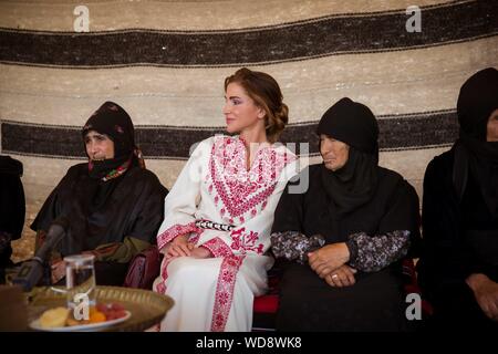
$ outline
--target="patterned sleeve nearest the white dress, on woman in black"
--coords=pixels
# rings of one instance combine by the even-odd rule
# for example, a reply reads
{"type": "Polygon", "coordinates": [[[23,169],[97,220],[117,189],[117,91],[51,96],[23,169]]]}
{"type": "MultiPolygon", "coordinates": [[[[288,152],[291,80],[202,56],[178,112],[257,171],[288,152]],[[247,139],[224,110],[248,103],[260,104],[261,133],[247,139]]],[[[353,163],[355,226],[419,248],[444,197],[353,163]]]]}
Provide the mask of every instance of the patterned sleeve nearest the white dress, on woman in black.
{"type": "Polygon", "coordinates": [[[271,250],[276,258],[305,263],[308,252],[319,249],[325,243],[321,235],[307,237],[298,231],[271,233],[271,250]]]}

